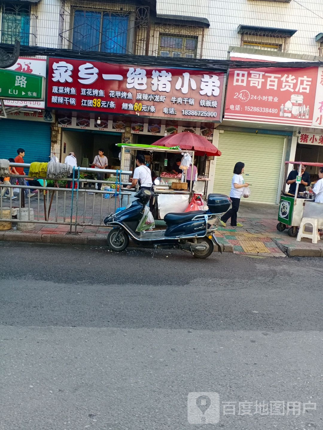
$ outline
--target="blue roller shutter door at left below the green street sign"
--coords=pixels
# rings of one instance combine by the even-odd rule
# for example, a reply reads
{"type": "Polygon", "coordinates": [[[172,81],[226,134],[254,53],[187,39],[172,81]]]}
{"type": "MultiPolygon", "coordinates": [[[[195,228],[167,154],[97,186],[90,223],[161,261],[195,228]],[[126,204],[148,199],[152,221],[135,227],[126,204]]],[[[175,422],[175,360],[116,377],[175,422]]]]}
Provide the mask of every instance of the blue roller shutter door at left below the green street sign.
{"type": "Polygon", "coordinates": [[[25,163],[49,161],[50,124],[0,120],[0,158],[15,158],[19,147],[26,152],[25,163]]]}

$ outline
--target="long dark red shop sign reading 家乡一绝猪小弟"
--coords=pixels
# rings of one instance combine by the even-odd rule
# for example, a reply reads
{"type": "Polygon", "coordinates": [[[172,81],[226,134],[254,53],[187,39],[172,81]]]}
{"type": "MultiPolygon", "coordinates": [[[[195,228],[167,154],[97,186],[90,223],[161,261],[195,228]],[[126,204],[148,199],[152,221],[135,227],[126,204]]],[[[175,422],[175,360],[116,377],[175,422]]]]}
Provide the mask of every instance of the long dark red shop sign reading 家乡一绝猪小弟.
{"type": "Polygon", "coordinates": [[[47,107],[221,122],[224,73],[48,59],[47,107]]]}

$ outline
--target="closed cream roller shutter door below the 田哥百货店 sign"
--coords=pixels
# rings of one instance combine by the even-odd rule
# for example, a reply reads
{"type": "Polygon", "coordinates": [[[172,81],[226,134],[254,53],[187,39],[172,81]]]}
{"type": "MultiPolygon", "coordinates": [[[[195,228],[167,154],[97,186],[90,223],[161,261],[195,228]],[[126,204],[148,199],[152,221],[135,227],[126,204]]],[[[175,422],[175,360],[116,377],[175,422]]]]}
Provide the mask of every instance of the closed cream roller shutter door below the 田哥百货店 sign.
{"type": "Polygon", "coordinates": [[[252,184],[250,202],[276,203],[285,137],[224,130],[219,134],[214,193],[229,195],[236,162],[245,163],[246,182],[252,184]]]}

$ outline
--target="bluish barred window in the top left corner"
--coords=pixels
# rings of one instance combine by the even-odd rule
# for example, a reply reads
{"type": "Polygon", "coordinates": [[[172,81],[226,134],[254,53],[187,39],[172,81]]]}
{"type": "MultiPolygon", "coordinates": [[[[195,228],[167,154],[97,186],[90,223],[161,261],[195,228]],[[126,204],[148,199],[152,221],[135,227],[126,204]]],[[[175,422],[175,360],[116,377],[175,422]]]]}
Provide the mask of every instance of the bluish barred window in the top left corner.
{"type": "Polygon", "coordinates": [[[30,8],[27,5],[4,4],[1,6],[1,42],[29,45],[30,8]]]}

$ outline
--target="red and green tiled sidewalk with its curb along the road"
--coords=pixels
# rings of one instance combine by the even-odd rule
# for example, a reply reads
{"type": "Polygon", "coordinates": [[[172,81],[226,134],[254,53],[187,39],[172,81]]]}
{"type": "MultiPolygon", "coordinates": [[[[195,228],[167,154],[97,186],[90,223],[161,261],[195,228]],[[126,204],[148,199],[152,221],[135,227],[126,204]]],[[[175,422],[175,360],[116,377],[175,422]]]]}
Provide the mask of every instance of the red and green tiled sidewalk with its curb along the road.
{"type": "MultiPolygon", "coordinates": [[[[312,244],[309,239],[296,241],[289,237],[287,229],[276,230],[278,206],[242,202],[238,221],[243,227],[219,226],[214,233],[224,252],[234,252],[250,257],[323,257],[323,240],[312,244]]],[[[83,218],[83,217],[82,217],[83,218]]],[[[164,221],[156,221],[156,228],[163,228],[164,221]]],[[[74,228],[73,228],[74,231],[74,228]]],[[[12,222],[11,230],[0,230],[0,240],[64,243],[106,246],[108,227],[77,227],[78,234],[68,234],[68,225],[35,224],[34,230],[17,230],[12,222]]],[[[130,241],[134,246],[134,243],[130,241]]]]}

